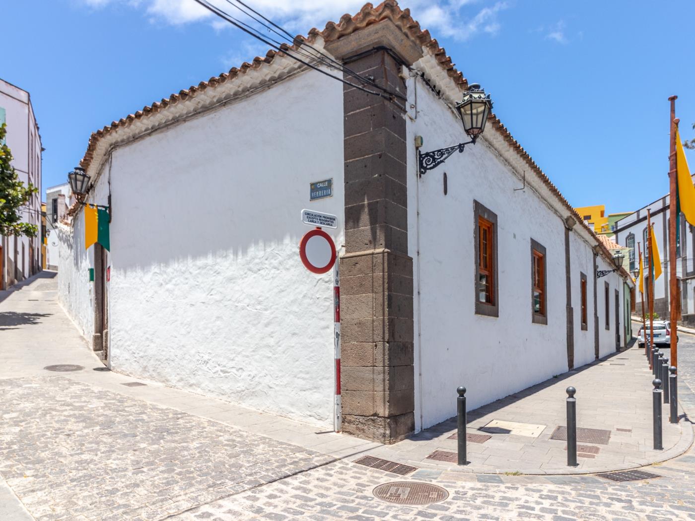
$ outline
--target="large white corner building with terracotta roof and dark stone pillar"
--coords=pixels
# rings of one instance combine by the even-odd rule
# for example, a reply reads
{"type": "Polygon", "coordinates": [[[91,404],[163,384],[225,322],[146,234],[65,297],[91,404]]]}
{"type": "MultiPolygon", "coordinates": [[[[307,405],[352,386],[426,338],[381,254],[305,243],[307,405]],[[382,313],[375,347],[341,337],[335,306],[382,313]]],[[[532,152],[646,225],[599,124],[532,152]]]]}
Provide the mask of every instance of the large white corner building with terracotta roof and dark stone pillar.
{"type": "Polygon", "coordinates": [[[457,386],[476,408],[625,345],[632,281],[597,278],[610,253],[497,117],[418,176],[416,136],[467,140],[429,33],[386,1],[308,41],[395,102],[270,52],[92,135],[111,251],[72,207],[58,279],[113,370],[332,427],[334,277],[300,261],[303,208],[338,216],[347,433],[391,443],[452,416],[457,386]]]}

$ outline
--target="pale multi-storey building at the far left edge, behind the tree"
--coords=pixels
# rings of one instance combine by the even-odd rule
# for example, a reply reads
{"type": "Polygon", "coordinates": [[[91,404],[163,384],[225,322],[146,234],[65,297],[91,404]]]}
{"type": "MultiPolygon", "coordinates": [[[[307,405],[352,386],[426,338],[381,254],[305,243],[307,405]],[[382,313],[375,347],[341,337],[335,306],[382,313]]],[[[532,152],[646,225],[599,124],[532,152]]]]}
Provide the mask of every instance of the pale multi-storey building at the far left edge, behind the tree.
{"type": "MultiPolygon", "coordinates": [[[[26,90],[0,79],[0,124],[7,124],[6,141],[19,180],[38,188],[22,211],[23,220],[41,229],[41,136],[26,90]]],[[[41,270],[41,238],[0,235],[0,290],[41,270]]]]}

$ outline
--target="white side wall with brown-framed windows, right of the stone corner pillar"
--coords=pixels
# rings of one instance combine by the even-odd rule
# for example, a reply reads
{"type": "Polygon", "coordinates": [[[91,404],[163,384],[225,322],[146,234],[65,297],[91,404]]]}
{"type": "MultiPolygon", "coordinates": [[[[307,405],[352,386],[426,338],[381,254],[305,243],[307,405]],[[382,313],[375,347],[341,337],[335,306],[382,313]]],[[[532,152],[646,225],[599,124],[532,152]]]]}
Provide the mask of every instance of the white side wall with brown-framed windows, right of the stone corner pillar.
{"type": "MultiPolygon", "coordinates": [[[[460,119],[423,83],[418,83],[417,102],[413,78],[408,92],[416,107],[409,112],[407,143],[421,135],[422,150],[430,151],[466,140],[460,119]]],[[[419,181],[414,147],[408,153],[420,429],[452,416],[457,386],[468,388],[468,408],[473,409],[567,371],[565,243],[562,217],[531,188],[515,191],[521,180],[484,140],[455,153],[419,181]],[[448,195],[443,194],[445,172],[448,195]],[[497,318],[475,314],[474,199],[498,218],[497,318]],[[532,323],[532,238],[546,247],[547,325],[532,323]]],[[[578,367],[594,360],[594,262],[591,246],[575,231],[570,237],[578,367]],[[587,274],[585,332],[580,327],[580,271],[587,274]]],[[[609,342],[602,335],[600,341],[602,354],[614,351],[614,337],[609,342]]]]}

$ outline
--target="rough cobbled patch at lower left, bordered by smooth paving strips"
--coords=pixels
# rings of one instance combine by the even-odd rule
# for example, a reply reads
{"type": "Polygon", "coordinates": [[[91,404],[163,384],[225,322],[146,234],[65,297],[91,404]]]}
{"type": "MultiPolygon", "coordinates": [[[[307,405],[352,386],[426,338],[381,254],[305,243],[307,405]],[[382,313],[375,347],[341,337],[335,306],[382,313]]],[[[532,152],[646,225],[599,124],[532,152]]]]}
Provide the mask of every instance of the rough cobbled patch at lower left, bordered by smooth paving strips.
{"type": "Polygon", "coordinates": [[[161,519],[334,461],[65,377],[0,396],[0,474],[40,521],[161,519]]]}

